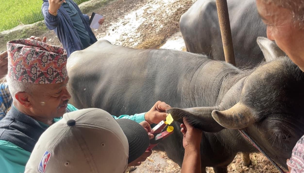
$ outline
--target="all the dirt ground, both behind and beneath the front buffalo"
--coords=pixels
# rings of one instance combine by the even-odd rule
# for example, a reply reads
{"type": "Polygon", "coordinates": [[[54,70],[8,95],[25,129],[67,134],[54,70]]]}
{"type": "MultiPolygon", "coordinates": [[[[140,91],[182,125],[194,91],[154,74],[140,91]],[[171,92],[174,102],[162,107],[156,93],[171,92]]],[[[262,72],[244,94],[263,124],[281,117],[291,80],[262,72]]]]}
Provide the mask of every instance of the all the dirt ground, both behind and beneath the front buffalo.
{"type": "MultiPolygon", "coordinates": [[[[88,12],[105,15],[105,23],[94,29],[98,40],[132,48],[165,48],[185,51],[178,22],[180,16],[195,0],[116,0],[88,12]]],[[[61,45],[53,31],[47,32],[47,42],[61,45]]],[[[250,155],[252,165],[243,166],[238,154],[228,167],[228,172],[279,172],[262,154],[250,155]]],[[[214,172],[207,168],[207,172],[214,172]]],[[[153,154],[130,173],[180,172],[179,166],[162,151],[153,154]]]]}

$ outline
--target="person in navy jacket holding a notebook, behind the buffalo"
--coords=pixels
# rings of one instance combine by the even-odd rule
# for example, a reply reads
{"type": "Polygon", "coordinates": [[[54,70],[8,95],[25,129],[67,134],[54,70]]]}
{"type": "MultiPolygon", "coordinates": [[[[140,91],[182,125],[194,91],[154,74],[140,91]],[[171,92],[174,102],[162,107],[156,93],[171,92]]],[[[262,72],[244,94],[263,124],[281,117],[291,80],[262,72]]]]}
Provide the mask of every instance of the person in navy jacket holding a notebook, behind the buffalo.
{"type": "MultiPolygon", "coordinates": [[[[90,17],[82,14],[73,0],[43,0],[42,14],[47,28],[54,30],[67,50],[67,57],[97,41],[88,23],[90,17]]],[[[98,23],[103,22],[104,18],[98,23]]]]}

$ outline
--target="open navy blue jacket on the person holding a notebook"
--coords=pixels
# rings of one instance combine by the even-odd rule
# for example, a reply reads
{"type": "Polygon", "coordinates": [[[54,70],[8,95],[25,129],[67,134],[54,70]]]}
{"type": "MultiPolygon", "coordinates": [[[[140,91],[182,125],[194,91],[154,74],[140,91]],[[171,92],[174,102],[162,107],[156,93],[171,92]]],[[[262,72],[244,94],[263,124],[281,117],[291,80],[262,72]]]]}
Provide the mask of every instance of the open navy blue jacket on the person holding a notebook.
{"type": "MultiPolygon", "coordinates": [[[[97,42],[97,39],[88,23],[89,16],[82,14],[78,5],[75,2],[73,1],[70,2],[78,10],[81,20],[85,25],[85,29],[88,31],[88,34],[90,36],[90,45],[92,45],[93,43],[97,42]]],[[[62,43],[63,47],[67,50],[67,56],[69,57],[71,53],[73,53],[74,51],[83,50],[84,46],[81,44],[79,35],[73,25],[70,16],[68,15],[64,7],[61,6],[58,9],[56,16],[51,15],[48,9],[49,9],[48,0],[43,0],[41,10],[44,17],[45,25],[50,30],[54,30],[54,32],[57,34],[59,41],[62,43]]]]}

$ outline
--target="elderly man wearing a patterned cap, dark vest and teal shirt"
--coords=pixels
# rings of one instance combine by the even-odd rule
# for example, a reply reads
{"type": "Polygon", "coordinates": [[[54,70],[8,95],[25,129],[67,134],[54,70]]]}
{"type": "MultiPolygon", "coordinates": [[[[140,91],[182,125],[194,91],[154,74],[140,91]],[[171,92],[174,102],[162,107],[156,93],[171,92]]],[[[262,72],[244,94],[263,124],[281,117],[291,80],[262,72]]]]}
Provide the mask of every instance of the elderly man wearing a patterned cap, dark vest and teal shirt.
{"type": "MultiPolygon", "coordinates": [[[[13,105],[0,123],[0,168],[1,172],[15,173],[24,172],[40,135],[64,113],[77,109],[67,104],[71,95],[66,88],[64,48],[30,39],[10,41],[7,48],[6,79],[13,105]]],[[[158,101],[147,113],[118,118],[157,123],[166,118],[168,108],[169,105],[158,101]]],[[[139,165],[150,154],[151,151],[145,152],[132,164],[139,165]]]]}

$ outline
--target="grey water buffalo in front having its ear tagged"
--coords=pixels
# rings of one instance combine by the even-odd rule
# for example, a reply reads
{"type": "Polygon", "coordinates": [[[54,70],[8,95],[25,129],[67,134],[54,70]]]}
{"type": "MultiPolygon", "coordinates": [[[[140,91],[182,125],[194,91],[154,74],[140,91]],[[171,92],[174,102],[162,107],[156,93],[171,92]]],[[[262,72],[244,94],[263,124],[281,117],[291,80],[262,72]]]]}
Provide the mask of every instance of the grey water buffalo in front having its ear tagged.
{"type": "MultiPolygon", "coordinates": [[[[202,168],[225,172],[237,152],[256,151],[237,128],[244,128],[286,168],[286,159],[304,133],[304,74],[287,57],[271,61],[282,55],[273,42],[266,38],[258,42],[268,63],[241,70],[206,55],[133,49],[101,40],[68,59],[71,103],[102,108],[112,115],[132,115],[165,101],[176,107],[170,110],[175,118],[187,116],[206,132],[202,168]]],[[[179,125],[173,124],[173,135],[160,148],[181,166],[184,148],[179,125]]]]}

